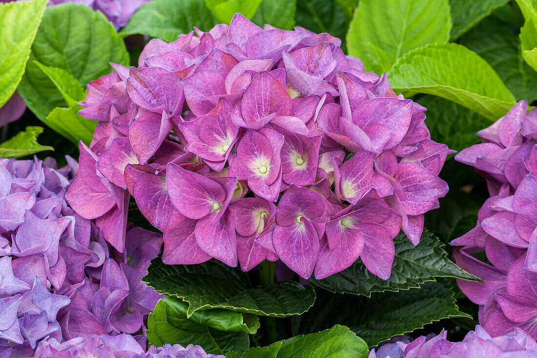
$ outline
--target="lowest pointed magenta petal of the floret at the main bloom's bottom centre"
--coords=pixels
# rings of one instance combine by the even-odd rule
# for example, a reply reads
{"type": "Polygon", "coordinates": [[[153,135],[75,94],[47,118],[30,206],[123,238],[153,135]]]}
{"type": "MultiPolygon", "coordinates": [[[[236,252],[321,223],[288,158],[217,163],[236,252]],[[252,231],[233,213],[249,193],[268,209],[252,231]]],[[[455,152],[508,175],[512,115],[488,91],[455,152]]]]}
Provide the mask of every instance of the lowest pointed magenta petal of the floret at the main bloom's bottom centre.
{"type": "Polygon", "coordinates": [[[274,228],[274,248],[290,269],[302,278],[308,279],[313,273],[319,253],[319,237],[310,221],[302,218],[300,223],[274,228]]]}

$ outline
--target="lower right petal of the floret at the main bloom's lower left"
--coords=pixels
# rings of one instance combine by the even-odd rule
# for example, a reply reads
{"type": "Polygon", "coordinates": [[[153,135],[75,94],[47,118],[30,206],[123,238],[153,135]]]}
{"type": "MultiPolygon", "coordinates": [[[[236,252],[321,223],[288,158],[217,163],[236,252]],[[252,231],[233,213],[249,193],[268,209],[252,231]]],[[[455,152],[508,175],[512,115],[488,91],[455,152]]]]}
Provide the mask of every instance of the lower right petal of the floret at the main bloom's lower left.
{"type": "Polygon", "coordinates": [[[229,210],[220,218],[218,212],[213,212],[200,219],[195,227],[195,238],[207,254],[228,266],[237,266],[237,239],[229,210]]]}

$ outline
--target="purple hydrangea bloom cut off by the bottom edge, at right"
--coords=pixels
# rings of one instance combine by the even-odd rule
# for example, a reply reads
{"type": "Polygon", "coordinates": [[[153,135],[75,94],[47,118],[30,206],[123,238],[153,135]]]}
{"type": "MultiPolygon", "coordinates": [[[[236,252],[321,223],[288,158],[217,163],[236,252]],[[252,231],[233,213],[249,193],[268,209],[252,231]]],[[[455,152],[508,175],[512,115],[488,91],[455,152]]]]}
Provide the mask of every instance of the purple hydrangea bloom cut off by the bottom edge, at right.
{"type": "Polygon", "coordinates": [[[379,349],[372,349],[369,358],[534,358],[537,342],[520,328],[492,338],[479,325],[466,334],[461,342],[450,342],[446,331],[440,334],[420,336],[410,341],[406,336],[397,337],[379,349]]]}

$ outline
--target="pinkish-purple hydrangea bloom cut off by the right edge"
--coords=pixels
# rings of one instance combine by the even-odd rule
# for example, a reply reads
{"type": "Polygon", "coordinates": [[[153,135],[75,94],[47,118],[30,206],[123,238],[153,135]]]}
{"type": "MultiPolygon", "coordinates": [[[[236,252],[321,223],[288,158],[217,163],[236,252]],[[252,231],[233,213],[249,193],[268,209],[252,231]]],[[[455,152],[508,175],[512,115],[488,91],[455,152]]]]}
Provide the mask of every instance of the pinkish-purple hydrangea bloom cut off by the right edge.
{"type": "Polygon", "coordinates": [[[476,227],[451,245],[457,264],[484,283],[459,287],[491,335],[520,327],[537,338],[537,110],[521,101],[477,135],[483,142],[455,159],[485,177],[491,196],[476,227]],[[483,251],[488,262],[474,257],[483,251]]]}

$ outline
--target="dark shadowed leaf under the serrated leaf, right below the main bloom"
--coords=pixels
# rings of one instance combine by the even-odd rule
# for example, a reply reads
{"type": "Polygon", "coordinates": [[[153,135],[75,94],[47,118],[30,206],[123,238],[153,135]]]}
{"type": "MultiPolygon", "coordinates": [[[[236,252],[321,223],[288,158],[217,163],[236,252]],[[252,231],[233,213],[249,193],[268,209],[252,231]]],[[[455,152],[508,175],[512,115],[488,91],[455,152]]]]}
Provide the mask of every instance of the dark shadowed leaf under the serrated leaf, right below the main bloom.
{"type": "Polygon", "coordinates": [[[377,292],[371,298],[322,290],[317,295],[314,308],[296,319],[299,331],[317,331],[339,323],[348,326],[369,347],[440,319],[471,318],[459,311],[445,279],[427,282],[419,289],[377,292]]]}

